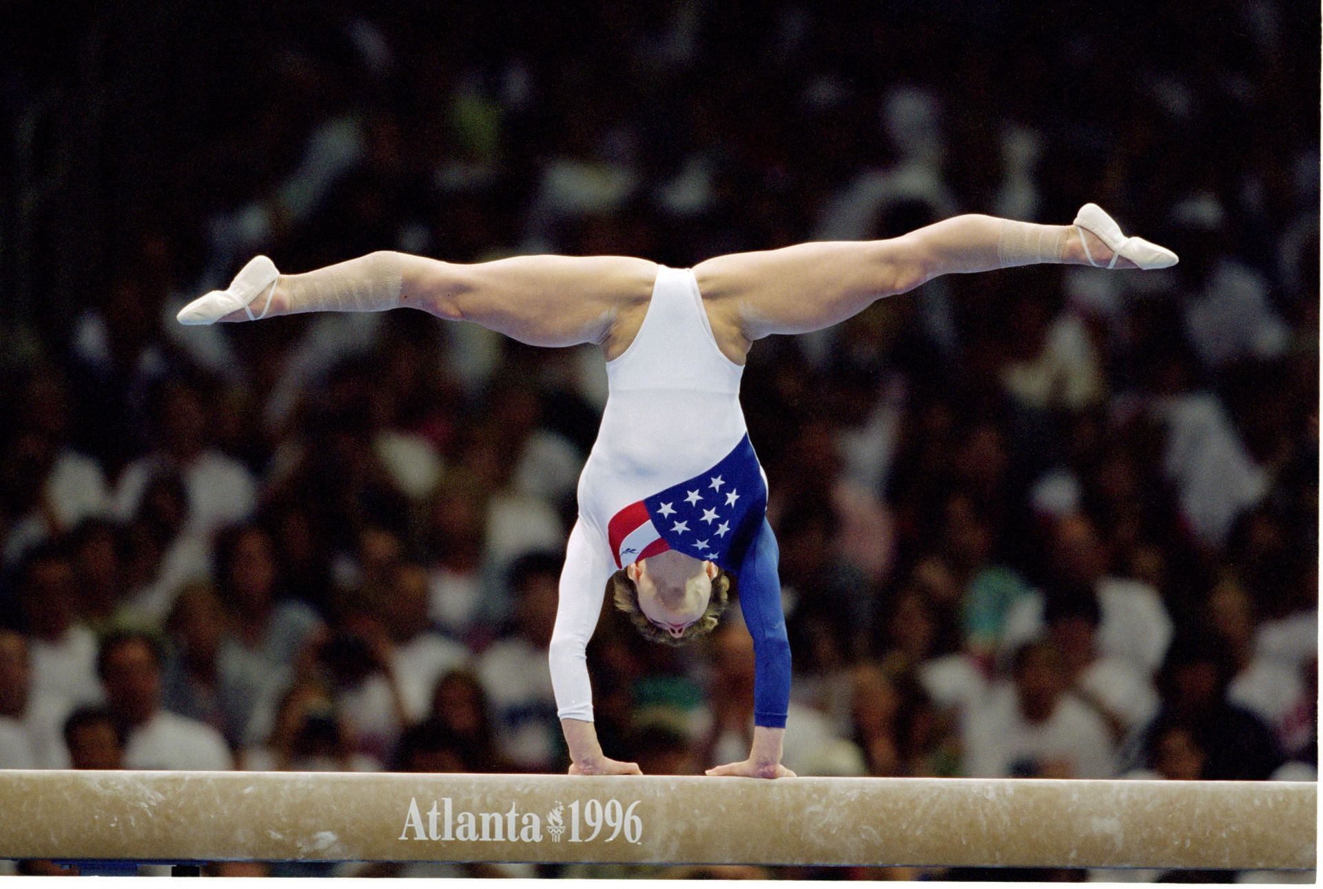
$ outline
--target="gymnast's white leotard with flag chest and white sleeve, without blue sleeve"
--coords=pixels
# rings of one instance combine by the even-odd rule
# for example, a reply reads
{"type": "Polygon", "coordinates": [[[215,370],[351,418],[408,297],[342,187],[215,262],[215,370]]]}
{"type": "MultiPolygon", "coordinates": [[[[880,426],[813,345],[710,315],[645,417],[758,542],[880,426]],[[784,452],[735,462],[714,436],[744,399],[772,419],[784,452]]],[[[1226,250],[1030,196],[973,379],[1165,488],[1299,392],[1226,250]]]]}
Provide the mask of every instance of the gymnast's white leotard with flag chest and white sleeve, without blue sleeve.
{"type": "Polygon", "coordinates": [[[736,537],[729,525],[738,520],[751,528],[754,520],[762,521],[766,504],[766,479],[747,446],[740,409],[744,366],[717,348],[691,270],[658,267],[643,324],[606,372],[610,394],[579,478],[579,516],[570,532],[550,643],[557,712],[585,721],[593,718],[593,700],[583,652],[611,574],[663,549],[722,564],[733,558],[729,549],[720,557],[712,553],[736,537]],[[718,466],[734,474],[720,479],[712,472],[718,466]],[[734,489],[732,499],[730,480],[737,475],[745,489],[734,489]],[[687,480],[692,489],[680,492],[679,500],[655,499],[687,480]],[[746,507],[751,509],[745,512],[746,507]],[[689,519],[681,525],[683,516],[689,519]],[[722,519],[728,528],[718,536],[713,532],[722,519]],[[672,530],[676,525],[679,532],[672,530]],[[706,548],[697,548],[700,542],[706,548]]]}

